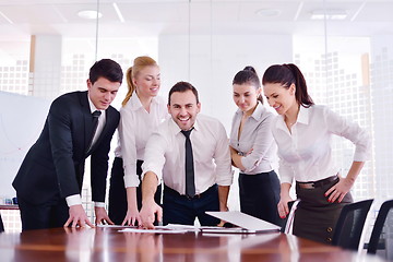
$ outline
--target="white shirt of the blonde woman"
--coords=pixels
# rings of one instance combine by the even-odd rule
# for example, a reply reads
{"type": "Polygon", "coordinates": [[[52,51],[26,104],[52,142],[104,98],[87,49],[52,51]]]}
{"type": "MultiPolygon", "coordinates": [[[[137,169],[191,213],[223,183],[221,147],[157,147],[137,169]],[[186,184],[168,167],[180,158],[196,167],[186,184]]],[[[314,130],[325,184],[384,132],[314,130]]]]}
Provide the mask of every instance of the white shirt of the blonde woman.
{"type": "Polygon", "coordinates": [[[148,136],[167,118],[169,114],[163,97],[153,97],[150,112],[144,109],[135,93],[120,108],[119,144],[115,155],[123,160],[126,188],[139,186],[136,160],[144,159],[148,136]]]}

